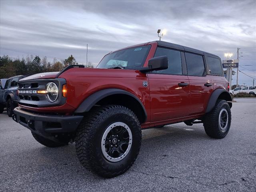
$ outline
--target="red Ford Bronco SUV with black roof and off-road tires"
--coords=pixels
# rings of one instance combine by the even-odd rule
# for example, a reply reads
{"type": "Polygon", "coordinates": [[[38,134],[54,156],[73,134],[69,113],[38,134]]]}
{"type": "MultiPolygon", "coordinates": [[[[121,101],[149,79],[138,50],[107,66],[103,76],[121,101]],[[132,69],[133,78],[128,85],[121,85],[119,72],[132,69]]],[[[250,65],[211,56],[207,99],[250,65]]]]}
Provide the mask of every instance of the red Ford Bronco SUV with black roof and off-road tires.
{"type": "Polygon", "coordinates": [[[40,144],[75,142],[81,164],[104,177],[136,160],[141,130],[177,122],[203,123],[224,138],[232,100],[221,59],[163,41],[110,52],[97,68],[68,66],[18,82],[13,119],[40,144]]]}

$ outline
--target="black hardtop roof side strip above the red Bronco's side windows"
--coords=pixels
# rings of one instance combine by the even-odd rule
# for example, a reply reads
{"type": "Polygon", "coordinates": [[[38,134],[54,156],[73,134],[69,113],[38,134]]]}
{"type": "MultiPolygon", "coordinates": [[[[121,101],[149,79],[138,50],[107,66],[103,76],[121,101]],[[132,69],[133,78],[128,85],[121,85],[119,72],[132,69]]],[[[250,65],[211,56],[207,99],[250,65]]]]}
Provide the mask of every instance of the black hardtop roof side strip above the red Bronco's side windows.
{"type": "Polygon", "coordinates": [[[178,45],[178,44],[174,44],[174,43],[169,43],[169,42],[165,42],[165,41],[156,41],[156,42],[157,42],[158,46],[178,49],[178,50],[182,50],[182,51],[188,51],[188,52],[197,53],[197,54],[201,54],[201,55],[209,54],[209,55],[216,56],[216,57],[220,58],[217,55],[214,55],[214,54],[211,54],[211,53],[208,53],[208,52],[204,52],[204,51],[200,51],[200,50],[197,50],[197,49],[193,49],[193,48],[190,48],[190,47],[186,47],[186,46],[182,46],[182,45],[178,45]]]}

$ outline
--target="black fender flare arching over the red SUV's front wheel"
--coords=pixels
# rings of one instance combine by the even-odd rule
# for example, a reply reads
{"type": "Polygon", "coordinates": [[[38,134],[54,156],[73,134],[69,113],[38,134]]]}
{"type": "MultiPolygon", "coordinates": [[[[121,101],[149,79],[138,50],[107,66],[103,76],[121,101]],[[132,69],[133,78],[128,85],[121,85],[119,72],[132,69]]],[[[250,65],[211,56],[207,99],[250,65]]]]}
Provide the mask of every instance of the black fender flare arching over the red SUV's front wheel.
{"type": "MultiPolygon", "coordinates": [[[[142,102],[132,93],[122,90],[122,89],[117,89],[117,88],[108,88],[108,89],[103,89],[100,91],[97,91],[93,94],[91,94],[90,96],[88,96],[76,109],[75,113],[84,113],[84,112],[88,112],[97,102],[99,102],[100,100],[102,100],[103,98],[110,96],[110,95],[114,95],[114,94],[125,94],[128,96],[133,97],[134,99],[136,99],[139,104],[141,105],[144,113],[145,113],[145,117],[147,119],[147,112],[146,109],[144,107],[144,105],[142,104],[142,102]]],[[[145,119],[145,121],[146,121],[145,119]]]]}

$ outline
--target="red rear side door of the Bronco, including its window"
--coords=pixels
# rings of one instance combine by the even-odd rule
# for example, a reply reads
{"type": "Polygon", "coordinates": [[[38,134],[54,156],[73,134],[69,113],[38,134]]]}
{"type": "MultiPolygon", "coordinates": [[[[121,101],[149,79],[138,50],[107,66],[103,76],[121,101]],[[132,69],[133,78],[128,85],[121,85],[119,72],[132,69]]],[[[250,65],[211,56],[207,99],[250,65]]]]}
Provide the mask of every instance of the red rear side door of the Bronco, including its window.
{"type": "Polygon", "coordinates": [[[185,52],[190,84],[190,115],[202,114],[213,91],[212,80],[206,75],[204,56],[185,52]]]}

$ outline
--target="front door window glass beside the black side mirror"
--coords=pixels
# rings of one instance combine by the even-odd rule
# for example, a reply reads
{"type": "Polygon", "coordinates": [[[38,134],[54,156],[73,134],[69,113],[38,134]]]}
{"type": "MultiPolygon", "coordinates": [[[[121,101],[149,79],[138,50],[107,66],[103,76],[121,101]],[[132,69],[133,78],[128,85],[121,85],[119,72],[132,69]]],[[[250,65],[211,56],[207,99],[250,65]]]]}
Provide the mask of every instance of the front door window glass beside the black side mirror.
{"type": "Polygon", "coordinates": [[[182,62],[180,51],[158,47],[154,57],[167,56],[168,69],[153,71],[153,73],[182,75],[182,62]]]}

